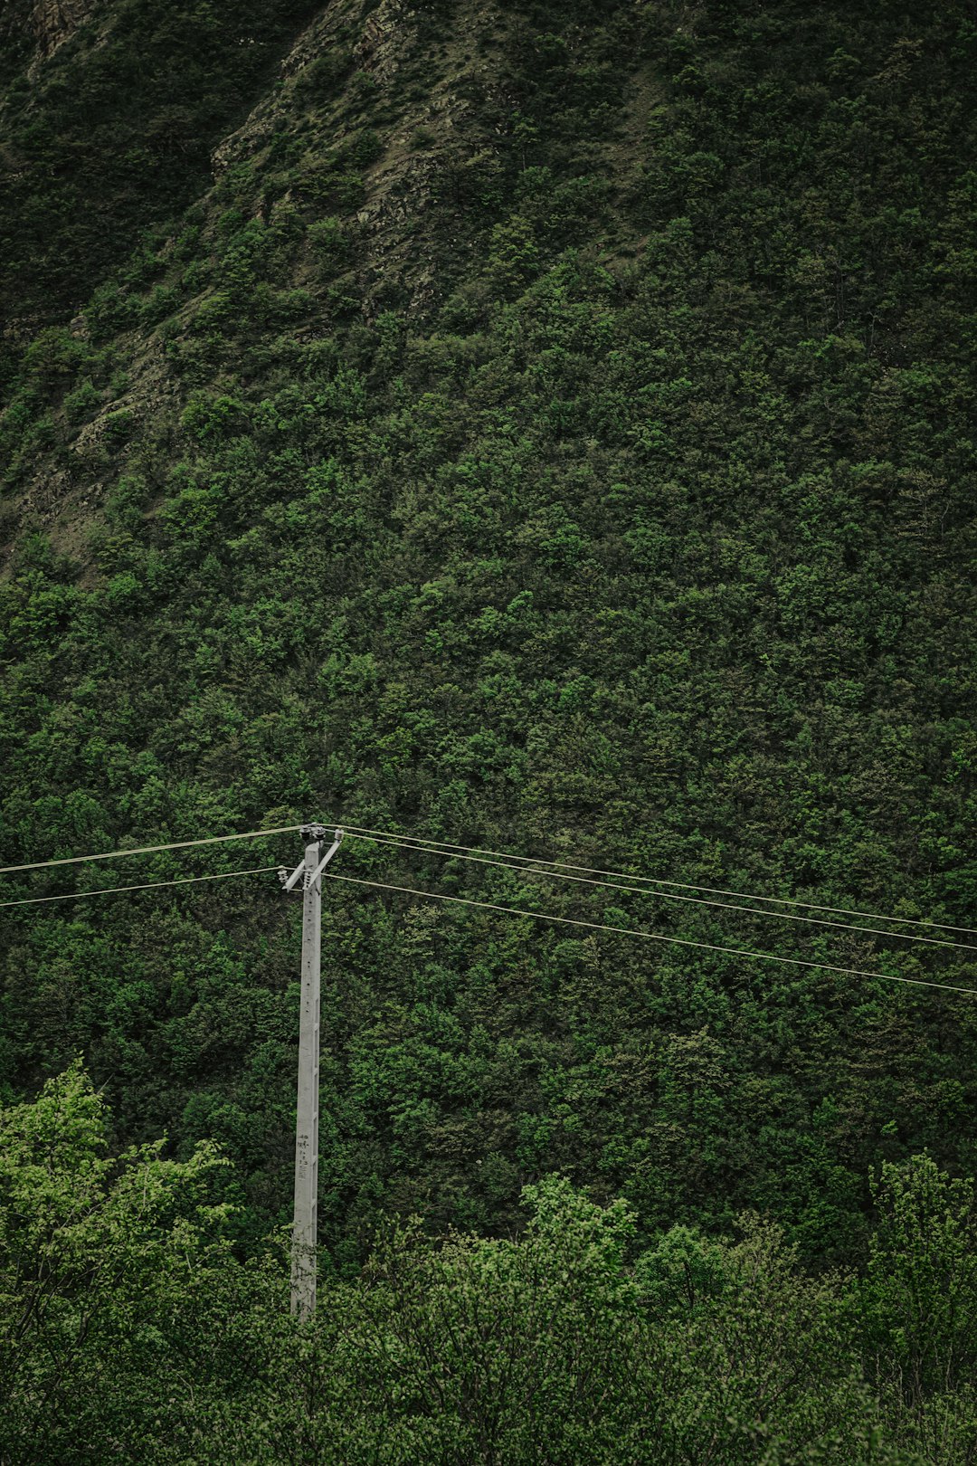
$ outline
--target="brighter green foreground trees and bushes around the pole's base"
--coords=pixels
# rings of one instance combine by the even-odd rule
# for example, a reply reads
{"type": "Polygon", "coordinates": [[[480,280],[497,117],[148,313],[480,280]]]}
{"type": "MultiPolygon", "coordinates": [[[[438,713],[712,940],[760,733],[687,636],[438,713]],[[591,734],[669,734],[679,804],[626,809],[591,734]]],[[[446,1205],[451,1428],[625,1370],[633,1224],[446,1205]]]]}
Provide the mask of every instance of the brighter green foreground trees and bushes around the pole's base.
{"type": "Polygon", "coordinates": [[[552,1179],[519,1240],[388,1229],[302,1325],[275,1255],[227,1246],[220,1158],[107,1161],[104,1119],[75,1069],[0,1120],[4,1462],[977,1459],[974,1190],[929,1158],[883,1167],[864,1281],[804,1277],[756,1217],[640,1250],[552,1179]]]}

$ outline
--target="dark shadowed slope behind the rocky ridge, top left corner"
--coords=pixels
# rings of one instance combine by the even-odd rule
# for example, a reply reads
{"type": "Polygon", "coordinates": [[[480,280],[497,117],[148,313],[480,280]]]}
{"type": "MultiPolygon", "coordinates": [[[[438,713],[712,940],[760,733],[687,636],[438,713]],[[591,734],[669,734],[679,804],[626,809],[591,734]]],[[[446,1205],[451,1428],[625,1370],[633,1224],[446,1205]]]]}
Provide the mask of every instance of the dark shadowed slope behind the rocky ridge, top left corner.
{"type": "Polygon", "coordinates": [[[136,242],[207,185],[209,150],[312,6],[10,0],[0,15],[0,387],[136,242]]]}

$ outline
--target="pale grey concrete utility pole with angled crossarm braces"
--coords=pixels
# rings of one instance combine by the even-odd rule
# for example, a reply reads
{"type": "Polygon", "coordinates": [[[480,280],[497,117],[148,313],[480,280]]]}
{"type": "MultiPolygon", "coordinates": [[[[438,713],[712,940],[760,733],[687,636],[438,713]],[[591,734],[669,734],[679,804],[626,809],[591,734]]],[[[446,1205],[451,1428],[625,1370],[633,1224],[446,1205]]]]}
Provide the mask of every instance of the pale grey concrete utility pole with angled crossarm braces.
{"type": "Polygon", "coordinates": [[[305,859],[289,875],[286,891],[302,877],[302,1009],[299,1020],[299,1095],[294,1130],[294,1218],[291,1224],[291,1312],[300,1319],[315,1309],[319,1202],[319,966],[322,938],[322,871],[340,847],[343,831],[325,855],[325,825],[302,825],[305,859]]]}

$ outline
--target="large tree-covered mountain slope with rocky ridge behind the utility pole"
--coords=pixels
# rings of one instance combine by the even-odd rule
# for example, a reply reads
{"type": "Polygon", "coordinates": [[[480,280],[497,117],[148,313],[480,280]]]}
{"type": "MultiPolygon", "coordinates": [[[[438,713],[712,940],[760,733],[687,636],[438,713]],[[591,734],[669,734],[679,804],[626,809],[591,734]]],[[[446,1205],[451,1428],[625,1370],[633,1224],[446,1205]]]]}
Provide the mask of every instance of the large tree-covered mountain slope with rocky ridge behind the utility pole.
{"type": "MultiPolygon", "coordinates": [[[[101,258],[81,312],[66,284],[12,378],[6,861],[333,815],[977,925],[965,7],[349,0],[291,35],[179,226],[101,258]]],[[[45,65],[76,75],[67,43],[45,65]]],[[[226,114],[220,67],[180,66],[193,116],[226,114]]],[[[977,978],[864,932],[341,862],[977,978]]],[[[340,1264],[391,1208],[505,1227],[557,1168],[649,1231],[754,1207],[852,1258],[870,1164],[973,1165],[965,998],[338,884],[324,929],[340,1264]]],[[[127,1136],[230,1148],[261,1231],[297,941],[274,877],[15,910],[6,1083],[83,1050],[127,1136]]]]}

